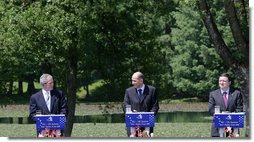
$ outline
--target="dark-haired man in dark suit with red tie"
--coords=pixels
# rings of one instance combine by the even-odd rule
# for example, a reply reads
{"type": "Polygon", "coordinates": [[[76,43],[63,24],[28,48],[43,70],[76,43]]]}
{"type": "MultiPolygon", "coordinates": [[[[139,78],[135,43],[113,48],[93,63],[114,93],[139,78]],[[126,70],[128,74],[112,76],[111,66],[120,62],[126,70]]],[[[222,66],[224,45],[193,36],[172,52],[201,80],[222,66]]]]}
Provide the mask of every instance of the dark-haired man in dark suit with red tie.
{"type": "MultiPolygon", "coordinates": [[[[211,116],[214,115],[215,106],[220,106],[220,112],[242,112],[243,101],[240,91],[230,87],[231,79],[228,74],[222,73],[219,77],[219,89],[210,92],[208,111],[211,116]]],[[[229,134],[226,134],[226,136],[229,134]]],[[[215,128],[212,123],[211,136],[219,137],[219,128],[215,128]]]]}

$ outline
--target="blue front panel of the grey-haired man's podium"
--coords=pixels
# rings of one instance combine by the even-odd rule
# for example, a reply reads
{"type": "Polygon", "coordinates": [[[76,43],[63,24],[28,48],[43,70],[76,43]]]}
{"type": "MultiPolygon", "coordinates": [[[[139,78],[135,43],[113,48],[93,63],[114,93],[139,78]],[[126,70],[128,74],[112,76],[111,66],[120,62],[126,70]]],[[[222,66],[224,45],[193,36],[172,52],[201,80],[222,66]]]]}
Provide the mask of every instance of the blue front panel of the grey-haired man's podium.
{"type": "Polygon", "coordinates": [[[36,129],[61,129],[65,128],[65,115],[36,115],[36,129]]]}

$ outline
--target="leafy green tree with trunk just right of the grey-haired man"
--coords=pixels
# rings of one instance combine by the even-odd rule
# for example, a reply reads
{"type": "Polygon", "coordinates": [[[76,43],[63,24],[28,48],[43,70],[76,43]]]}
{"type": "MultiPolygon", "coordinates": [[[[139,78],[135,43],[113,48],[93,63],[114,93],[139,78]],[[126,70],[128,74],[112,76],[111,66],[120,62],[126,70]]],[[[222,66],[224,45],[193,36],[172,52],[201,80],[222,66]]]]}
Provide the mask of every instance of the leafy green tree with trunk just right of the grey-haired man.
{"type": "MultiPolygon", "coordinates": [[[[32,77],[31,82],[45,71],[52,72],[58,87],[67,94],[70,111],[66,136],[71,135],[74,121],[77,61],[79,53],[82,54],[78,46],[79,19],[76,18],[78,12],[82,11],[78,10],[82,9],[81,6],[82,3],[77,1],[9,2],[6,3],[7,14],[3,20],[6,22],[3,23],[6,32],[3,34],[2,47],[14,61],[22,61],[18,71],[28,73],[27,76],[32,77]],[[54,67],[52,70],[41,69],[45,64],[49,64],[46,67],[54,67]]],[[[18,71],[13,71],[18,74],[18,71]]]]}

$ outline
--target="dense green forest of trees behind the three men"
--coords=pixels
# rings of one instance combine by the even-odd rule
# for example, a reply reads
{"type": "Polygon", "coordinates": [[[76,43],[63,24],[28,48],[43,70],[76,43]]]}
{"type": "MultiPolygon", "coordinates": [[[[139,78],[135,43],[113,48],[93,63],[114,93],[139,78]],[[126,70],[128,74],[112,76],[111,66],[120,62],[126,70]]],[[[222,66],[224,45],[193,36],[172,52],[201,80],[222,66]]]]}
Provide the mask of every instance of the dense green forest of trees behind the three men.
{"type": "Polygon", "coordinates": [[[79,88],[122,101],[141,71],[160,100],[208,101],[227,72],[249,109],[247,0],[2,0],[0,27],[0,96],[30,96],[50,73],[75,110],[79,88]]]}

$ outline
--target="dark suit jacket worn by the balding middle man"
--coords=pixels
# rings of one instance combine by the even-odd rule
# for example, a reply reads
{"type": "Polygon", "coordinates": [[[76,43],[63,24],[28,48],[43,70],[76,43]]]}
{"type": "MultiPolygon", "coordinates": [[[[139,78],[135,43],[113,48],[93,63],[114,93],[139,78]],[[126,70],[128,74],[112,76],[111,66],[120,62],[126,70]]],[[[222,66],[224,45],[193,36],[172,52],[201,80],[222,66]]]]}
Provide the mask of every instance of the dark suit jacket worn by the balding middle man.
{"type": "Polygon", "coordinates": [[[135,87],[126,89],[124,96],[124,112],[125,106],[131,105],[132,111],[137,112],[154,112],[156,114],[159,110],[158,95],[155,87],[145,85],[143,94],[139,98],[135,87]]]}

